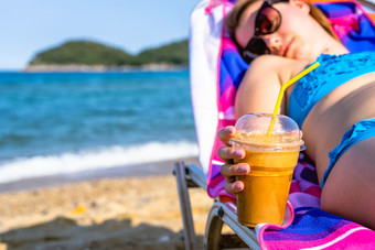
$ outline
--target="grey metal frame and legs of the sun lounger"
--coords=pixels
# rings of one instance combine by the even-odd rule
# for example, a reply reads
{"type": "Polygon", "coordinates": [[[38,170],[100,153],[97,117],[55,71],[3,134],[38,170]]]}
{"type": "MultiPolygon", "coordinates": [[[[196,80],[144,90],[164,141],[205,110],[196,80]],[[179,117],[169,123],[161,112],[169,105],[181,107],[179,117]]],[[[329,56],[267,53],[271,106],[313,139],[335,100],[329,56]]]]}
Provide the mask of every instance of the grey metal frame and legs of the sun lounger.
{"type": "MultiPolygon", "coordinates": [[[[186,250],[197,249],[197,238],[194,230],[193,215],[190,204],[189,188],[202,187],[206,189],[206,181],[203,171],[197,165],[185,165],[183,162],[176,162],[173,171],[180,198],[180,209],[183,221],[183,232],[186,250]]],[[[214,199],[206,220],[204,233],[204,249],[218,250],[223,246],[238,248],[238,241],[233,237],[222,235],[223,225],[227,225],[236,237],[250,249],[260,249],[257,236],[254,229],[242,226],[237,221],[236,210],[228,203],[221,203],[214,199]],[[224,242],[226,241],[226,242],[224,242]],[[231,242],[235,246],[231,246],[231,242]]]]}

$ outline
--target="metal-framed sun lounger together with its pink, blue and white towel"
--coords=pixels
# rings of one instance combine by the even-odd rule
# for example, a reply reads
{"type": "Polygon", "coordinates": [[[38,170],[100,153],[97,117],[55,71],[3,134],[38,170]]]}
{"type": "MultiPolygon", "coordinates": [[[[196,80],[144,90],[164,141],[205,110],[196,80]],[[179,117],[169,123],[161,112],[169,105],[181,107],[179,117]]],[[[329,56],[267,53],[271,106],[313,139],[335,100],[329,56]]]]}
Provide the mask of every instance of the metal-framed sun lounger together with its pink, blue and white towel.
{"type": "MultiPolygon", "coordinates": [[[[237,222],[235,197],[224,191],[219,173],[223,162],[216,152],[217,131],[234,124],[234,97],[248,65],[223,32],[223,17],[235,1],[202,1],[191,15],[190,74],[192,102],[201,166],[175,163],[181,215],[186,249],[196,249],[189,187],[207,191],[214,204],[207,216],[205,249],[322,249],[356,247],[375,249],[375,232],[357,224],[324,213],[313,163],[301,153],[290,188],[282,226],[259,225],[256,229],[237,222]],[[236,237],[222,233],[227,225],[236,237]],[[231,246],[228,242],[233,242],[231,246]]],[[[318,6],[334,23],[334,31],[352,52],[375,51],[375,4],[371,1],[320,1],[318,6]]]]}

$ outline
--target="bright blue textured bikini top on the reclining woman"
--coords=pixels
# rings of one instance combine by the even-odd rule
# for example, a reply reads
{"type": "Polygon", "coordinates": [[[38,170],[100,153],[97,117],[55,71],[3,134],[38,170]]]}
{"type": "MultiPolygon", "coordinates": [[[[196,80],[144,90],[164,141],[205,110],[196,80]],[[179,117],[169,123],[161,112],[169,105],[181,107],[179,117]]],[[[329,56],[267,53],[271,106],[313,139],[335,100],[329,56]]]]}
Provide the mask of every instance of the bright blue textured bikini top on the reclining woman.
{"type": "Polygon", "coordinates": [[[321,54],[320,66],[302,77],[289,96],[288,116],[301,128],[312,107],[342,84],[375,72],[375,52],[321,54]]]}

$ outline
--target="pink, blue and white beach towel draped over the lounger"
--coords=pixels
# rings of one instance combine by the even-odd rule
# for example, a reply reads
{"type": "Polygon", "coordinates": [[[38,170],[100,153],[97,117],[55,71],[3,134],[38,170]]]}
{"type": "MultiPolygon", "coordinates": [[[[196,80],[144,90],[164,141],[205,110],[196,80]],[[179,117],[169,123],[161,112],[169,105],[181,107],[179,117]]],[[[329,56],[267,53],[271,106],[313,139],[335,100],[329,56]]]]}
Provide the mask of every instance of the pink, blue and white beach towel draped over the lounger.
{"type": "MultiPolygon", "coordinates": [[[[224,191],[218,130],[234,126],[236,89],[248,67],[223,30],[223,17],[235,1],[201,2],[192,13],[190,74],[200,162],[211,197],[231,197],[224,191]],[[214,83],[211,85],[210,83],[214,83]]],[[[351,52],[375,50],[375,25],[361,4],[350,1],[315,3],[351,52]]],[[[313,163],[303,154],[290,188],[290,217],[282,226],[258,225],[262,249],[375,248],[375,232],[319,209],[321,189],[313,163]]],[[[223,199],[224,200],[224,199],[223,199]]],[[[287,213],[288,214],[288,213],[287,213]]]]}

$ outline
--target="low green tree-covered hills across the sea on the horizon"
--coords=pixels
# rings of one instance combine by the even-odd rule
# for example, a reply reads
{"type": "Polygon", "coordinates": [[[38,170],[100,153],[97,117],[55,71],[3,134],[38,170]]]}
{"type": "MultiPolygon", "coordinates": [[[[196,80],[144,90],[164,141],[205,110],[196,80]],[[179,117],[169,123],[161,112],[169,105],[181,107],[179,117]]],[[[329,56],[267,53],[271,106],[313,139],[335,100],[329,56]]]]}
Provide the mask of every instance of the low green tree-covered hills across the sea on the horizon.
{"type": "Polygon", "coordinates": [[[165,64],[186,66],[188,40],[144,50],[131,55],[122,50],[92,41],[71,41],[61,46],[38,53],[29,66],[38,65],[101,65],[108,67],[165,64]]]}

